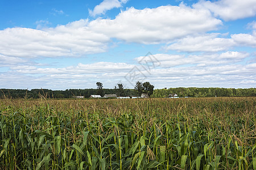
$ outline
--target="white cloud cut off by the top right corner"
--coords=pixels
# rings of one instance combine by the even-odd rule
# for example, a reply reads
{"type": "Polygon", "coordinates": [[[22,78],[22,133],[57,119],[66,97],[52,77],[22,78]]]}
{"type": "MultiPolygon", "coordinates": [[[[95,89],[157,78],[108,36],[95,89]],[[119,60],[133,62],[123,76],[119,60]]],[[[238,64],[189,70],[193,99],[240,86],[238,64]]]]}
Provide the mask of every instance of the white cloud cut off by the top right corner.
{"type": "Polygon", "coordinates": [[[215,2],[201,0],[195,5],[195,8],[208,8],[214,16],[228,20],[236,20],[256,15],[255,0],[219,0],[215,2]]]}

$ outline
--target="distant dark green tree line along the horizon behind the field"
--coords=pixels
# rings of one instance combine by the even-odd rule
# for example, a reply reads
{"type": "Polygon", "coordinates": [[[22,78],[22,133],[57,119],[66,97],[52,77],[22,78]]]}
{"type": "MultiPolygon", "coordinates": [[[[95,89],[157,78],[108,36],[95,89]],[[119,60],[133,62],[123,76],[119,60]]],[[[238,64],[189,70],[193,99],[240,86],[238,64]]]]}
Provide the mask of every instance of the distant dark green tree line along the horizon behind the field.
{"type": "Polygon", "coordinates": [[[137,82],[134,89],[123,89],[122,84],[118,84],[113,89],[103,88],[103,84],[97,82],[97,88],[89,89],[67,89],[67,90],[48,90],[48,89],[0,89],[0,97],[8,98],[33,98],[38,99],[42,96],[47,98],[72,98],[73,96],[90,97],[90,95],[117,94],[117,96],[141,96],[146,93],[150,97],[168,97],[170,94],[177,94],[179,97],[233,97],[233,96],[256,96],[256,88],[198,88],[198,87],[177,87],[155,89],[149,82],[137,82]],[[99,86],[98,86],[99,85],[99,86]]]}

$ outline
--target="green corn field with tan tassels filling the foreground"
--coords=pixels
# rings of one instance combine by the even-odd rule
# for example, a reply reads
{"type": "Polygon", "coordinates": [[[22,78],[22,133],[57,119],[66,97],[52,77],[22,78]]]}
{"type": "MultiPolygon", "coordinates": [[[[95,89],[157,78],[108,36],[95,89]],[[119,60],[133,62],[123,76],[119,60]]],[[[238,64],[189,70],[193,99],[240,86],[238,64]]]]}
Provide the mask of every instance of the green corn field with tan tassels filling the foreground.
{"type": "Polygon", "coordinates": [[[255,97],[0,102],[0,169],[256,169],[255,97]]]}

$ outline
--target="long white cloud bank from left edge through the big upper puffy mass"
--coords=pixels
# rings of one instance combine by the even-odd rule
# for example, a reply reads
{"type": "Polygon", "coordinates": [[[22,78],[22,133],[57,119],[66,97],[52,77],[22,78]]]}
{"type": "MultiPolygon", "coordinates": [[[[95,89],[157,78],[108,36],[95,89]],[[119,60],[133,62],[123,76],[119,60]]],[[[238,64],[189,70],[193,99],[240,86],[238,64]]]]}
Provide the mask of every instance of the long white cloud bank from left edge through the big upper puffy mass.
{"type": "MultiPolygon", "coordinates": [[[[39,21],[38,27],[48,24],[39,21]]],[[[221,20],[207,10],[161,6],[122,11],[115,19],[81,19],[55,28],[6,28],[0,31],[0,54],[9,57],[80,57],[105,52],[111,39],[159,44],[217,29],[221,20]]]]}

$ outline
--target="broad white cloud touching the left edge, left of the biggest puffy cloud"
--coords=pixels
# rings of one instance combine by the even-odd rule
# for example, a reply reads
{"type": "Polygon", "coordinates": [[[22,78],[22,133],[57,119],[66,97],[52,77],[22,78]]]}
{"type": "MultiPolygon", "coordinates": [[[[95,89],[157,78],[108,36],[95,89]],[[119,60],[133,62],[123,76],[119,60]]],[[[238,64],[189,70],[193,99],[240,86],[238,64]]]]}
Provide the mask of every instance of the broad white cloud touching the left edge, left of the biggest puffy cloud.
{"type": "Polygon", "coordinates": [[[109,37],[90,30],[79,20],[44,30],[6,28],[0,31],[0,54],[9,57],[79,57],[105,52],[109,37]]]}

